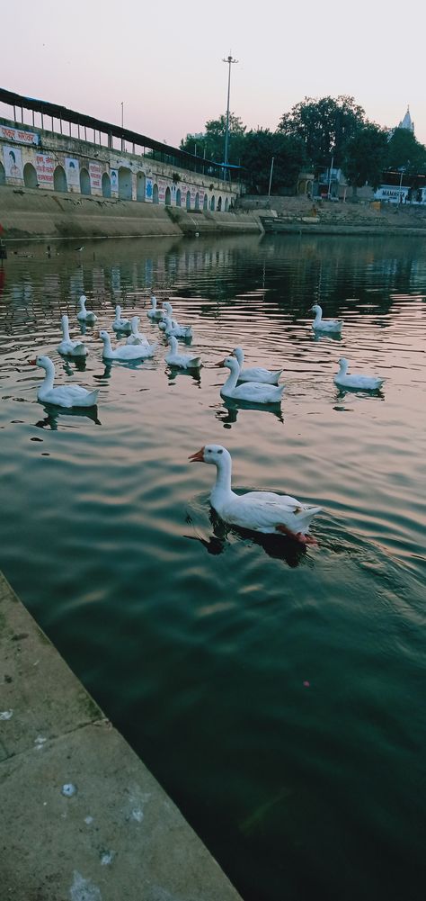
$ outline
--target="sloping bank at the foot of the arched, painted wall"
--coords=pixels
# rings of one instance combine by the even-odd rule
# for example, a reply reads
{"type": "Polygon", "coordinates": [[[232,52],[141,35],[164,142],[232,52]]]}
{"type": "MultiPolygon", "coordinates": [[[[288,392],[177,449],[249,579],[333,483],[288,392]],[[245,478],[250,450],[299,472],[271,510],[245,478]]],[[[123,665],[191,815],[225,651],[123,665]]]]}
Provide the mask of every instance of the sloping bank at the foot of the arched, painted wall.
{"type": "Polygon", "coordinates": [[[4,240],[260,232],[255,213],[209,213],[106,197],[0,188],[4,240]]]}

